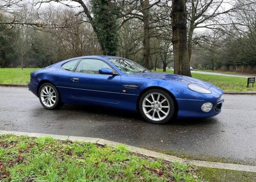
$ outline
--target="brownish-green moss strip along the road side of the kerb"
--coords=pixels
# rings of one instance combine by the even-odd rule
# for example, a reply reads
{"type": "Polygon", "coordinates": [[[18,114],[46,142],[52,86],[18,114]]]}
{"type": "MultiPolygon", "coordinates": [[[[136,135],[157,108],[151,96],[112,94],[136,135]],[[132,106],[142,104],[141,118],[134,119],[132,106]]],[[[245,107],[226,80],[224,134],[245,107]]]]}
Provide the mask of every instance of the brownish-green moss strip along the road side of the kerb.
{"type": "Polygon", "coordinates": [[[174,155],[176,157],[182,158],[182,159],[187,159],[187,160],[199,160],[199,161],[208,161],[208,162],[218,162],[218,163],[232,163],[232,164],[242,164],[242,165],[255,165],[252,162],[245,162],[245,161],[238,161],[238,160],[233,160],[233,159],[228,159],[228,158],[218,158],[218,157],[209,157],[206,155],[192,155],[184,152],[176,152],[172,150],[157,150],[157,149],[152,149],[152,148],[147,148],[143,147],[147,150],[152,150],[156,151],[159,153],[167,154],[167,155],[174,155]]]}

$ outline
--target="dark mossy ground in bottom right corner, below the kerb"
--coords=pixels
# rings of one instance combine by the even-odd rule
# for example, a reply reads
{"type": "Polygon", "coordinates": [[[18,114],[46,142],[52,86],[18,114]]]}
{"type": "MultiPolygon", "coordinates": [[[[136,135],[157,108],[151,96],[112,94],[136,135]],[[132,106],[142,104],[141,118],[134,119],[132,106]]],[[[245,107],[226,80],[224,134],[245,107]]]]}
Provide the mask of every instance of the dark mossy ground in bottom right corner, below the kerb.
{"type": "Polygon", "coordinates": [[[227,169],[217,169],[217,168],[206,168],[198,167],[198,176],[201,176],[203,180],[209,182],[254,182],[256,181],[255,172],[244,172],[244,171],[234,171],[227,169]]]}

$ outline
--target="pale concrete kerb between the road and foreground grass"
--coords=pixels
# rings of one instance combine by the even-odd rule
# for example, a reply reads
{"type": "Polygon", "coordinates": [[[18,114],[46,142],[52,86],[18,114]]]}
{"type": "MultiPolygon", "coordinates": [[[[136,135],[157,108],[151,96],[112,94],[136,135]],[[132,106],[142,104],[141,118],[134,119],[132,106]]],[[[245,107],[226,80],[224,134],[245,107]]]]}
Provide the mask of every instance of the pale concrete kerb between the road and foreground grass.
{"type": "MultiPolygon", "coordinates": [[[[89,137],[75,137],[75,136],[64,136],[64,135],[50,135],[50,134],[39,134],[39,133],[26,133],[26,132],[13,132],[13,131],[0,131],[1,135],[13,134],[16,136],[26,135],[29,137],[45,137],[49,136],[57,140],[71,140],[77,142],[90,142],[98,145],[105,145],[110,147],[116,147],[121,143],[99,139],[99,138],[89,138],[89,137]]],[[[210,168],[219,168],[219,169],[228,169],[228,170],[237,170],[237,171],[246,171],[246,172],[256,172],[256,166],[250,165],[240,165],[240,164],[228,164],[228,163],[217,163],[217,162],[208,162],[208,161],[198,161],[198,160],[185,160],[178,158],[173,155],[166,155],[163,153],[158,153],[155,151],[134,147],[130,145],[125,145],[131,152],[144,155],[151,158],[160,158],[169,162],[183,162],[183,163],[193,163],[198,167],[210,167],[210,168]]]]}

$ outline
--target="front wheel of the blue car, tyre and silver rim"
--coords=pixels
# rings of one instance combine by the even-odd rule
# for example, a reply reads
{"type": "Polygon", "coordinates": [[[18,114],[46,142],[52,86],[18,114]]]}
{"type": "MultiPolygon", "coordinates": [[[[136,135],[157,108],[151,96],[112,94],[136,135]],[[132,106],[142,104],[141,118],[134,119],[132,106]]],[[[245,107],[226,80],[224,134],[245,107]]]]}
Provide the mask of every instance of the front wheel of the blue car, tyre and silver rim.
{"type": "Polygon", "coordinates": [[[163,90],[148,90],[139,100],[139,111],[148,122],[163,124],[170,121],[174,115],[174,101],[163,90]]]}

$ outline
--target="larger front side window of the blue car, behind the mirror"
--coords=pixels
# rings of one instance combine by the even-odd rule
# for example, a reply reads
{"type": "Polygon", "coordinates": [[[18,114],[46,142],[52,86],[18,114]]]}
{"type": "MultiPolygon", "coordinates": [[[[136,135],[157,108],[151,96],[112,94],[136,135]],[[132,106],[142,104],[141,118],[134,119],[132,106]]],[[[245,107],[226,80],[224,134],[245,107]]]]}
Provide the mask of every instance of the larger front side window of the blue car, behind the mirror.
{"type": "Polygon", "coordinates": [[[112,69],[104,61],[96,60],[96,59],[83,59],[78,64],[78,66],[76,68],[76,72],[99,74],[99,69],[101,69],[101,68],[112,69]]]}

